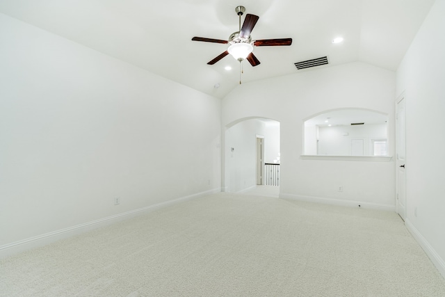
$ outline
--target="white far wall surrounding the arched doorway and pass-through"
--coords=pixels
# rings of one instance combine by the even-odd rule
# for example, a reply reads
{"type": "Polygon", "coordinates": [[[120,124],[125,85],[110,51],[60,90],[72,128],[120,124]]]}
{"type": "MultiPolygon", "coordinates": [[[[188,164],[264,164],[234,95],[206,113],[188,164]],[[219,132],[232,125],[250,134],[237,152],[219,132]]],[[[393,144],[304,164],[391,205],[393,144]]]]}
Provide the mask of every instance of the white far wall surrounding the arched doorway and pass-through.
{"type": "Polygon", "coordinates": [[[389,155],[394,155],[394,98],[394,72],[365,63],[323,67],[243,83],[223,99],[223,125],[253,116],[280,122],[281,197],[323,198],[394,209],[394,161],[300,158],[303,120],[341,108],[389,114],[389,155]],[[338,186],[343,186],[343,192],[337,191],[338,186]]]}

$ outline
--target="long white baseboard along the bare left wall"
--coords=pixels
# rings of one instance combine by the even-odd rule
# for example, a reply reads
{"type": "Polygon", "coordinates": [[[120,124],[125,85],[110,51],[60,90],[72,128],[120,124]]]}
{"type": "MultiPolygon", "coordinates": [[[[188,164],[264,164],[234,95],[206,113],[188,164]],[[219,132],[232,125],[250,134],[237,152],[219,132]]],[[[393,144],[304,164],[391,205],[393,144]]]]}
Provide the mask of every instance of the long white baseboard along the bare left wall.
{"type": "Polygon", "coordinates": [[[150,205],[148,207],[142,207],[140,209],[134,209],[132,211],[127,211],[122,214],[116,214],[114,216],[107,216],[105,218],[99,218],[98,220],[92,220],[88,223],[83,223],[79,225],[74,225],[72,227],[67,227],[65,229],[56,230],[54,232],[49,232],[45,234],[40,234],[38,236],[33,236],[27,239],[23,239],[20,241],[15,241],[13,243],[8,243],[3,246],[0,246],[0,259],[4,257],[8,257],[10,255],[15,255],[19,252],[23,252],[25,250],[31,250],[32,248],[38,248],[40,246],[46,246],[49,243],[53,243],[60,239],[65,239],[70,236],[74,236],[76,234],[81,234],[83,232],[87,232],[98,227],[104,227],[106,225],[111,225],[112,223],[118,222],[119,220],[124,220],[131,218],[133,216],[140,215],[145,212],[154,211],[156,209],[161,209],[163,207],[167,207],[169,205],[178,204],[180,202],[184,202],[186,200],[192,200],[195,198],[200,198],[204,195],[209,195],[211,193],[220,192],[220,188],[212,189],[209,191],[204,191],[201,193],[196,193],[193,195],[184,196],[181,198],[168,200],[165,202],[157,203],[150,205]]]}

